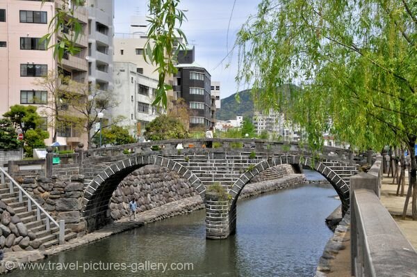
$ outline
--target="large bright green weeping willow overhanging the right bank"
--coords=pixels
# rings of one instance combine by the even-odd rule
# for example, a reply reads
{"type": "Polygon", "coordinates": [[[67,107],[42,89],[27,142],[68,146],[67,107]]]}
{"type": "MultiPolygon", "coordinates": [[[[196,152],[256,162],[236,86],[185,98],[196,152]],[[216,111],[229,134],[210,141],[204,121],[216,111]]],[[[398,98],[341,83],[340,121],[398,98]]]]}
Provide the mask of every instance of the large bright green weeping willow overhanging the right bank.
{"type": "Polygon", "coordinates": [[[263,0],[238,33],[236,79],[256,105],[285,109],[322,144],[323,132],[376,150],[407,144],[417,219],[417,5],[409,0],[263,0]],[[302,92],[276,93],[297,83],[302,92]]]}

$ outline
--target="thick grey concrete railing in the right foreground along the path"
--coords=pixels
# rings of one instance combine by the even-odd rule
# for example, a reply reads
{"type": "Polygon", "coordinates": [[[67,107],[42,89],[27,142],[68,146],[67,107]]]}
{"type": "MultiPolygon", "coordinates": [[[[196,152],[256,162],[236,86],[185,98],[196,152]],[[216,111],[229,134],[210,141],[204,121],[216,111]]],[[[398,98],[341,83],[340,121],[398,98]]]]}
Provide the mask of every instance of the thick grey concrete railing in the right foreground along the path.
{"type": "Polygon", "coordinates": [[[416,251],[379,201],[381,180],[382,157],[350,177],[352,276],[417,276],[416,251]]]}

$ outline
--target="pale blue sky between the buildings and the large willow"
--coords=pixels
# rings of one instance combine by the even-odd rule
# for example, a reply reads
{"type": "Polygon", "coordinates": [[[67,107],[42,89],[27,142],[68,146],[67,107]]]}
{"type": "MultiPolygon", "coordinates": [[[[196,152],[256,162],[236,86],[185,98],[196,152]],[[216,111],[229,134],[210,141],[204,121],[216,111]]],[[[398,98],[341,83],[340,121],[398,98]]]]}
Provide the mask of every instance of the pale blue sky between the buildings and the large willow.
{"type": "MultiPolygon", "coordinates": [[[[181,0],[180,8],[186,11],[188,21],[181,29],[188,44],[195,45],[195,62],[204,66],[212,81],[220,81],[220,98],[243,90],[238,88],[235,77],[238,70],[236,33],[249,15],[256,13],[261,0],[181,0]],[[233,14],[231,15],[233,10],[233,14]],[[231,19],[230,19],[231,18],[231,19]],[[227,35],[230,19],[229,35],[227,35]],[[220,63],[220,61],[224,61],[220,63]],[[220,63],[220,65],[219,65],[220,63]],[[227,67],[227,64],[229,66],[227,67]]],[[[146,15],[146,0],[115,0],[115,33],[129,33],[130,18],[146,15]]]]}

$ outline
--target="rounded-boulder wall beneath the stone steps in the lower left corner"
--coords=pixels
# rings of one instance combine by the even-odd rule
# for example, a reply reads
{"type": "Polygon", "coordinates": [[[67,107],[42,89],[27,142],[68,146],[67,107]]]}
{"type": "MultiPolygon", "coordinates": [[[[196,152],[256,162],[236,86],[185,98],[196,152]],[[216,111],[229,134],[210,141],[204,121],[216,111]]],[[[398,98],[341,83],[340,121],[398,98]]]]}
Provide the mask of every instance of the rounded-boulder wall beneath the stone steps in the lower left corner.
{"type": "Polygon", "coordinates": [[[15,210],[0,200],[0,248],[3,251],[33,250],[40,246],[33,232],[15,214],[15,210]]]}

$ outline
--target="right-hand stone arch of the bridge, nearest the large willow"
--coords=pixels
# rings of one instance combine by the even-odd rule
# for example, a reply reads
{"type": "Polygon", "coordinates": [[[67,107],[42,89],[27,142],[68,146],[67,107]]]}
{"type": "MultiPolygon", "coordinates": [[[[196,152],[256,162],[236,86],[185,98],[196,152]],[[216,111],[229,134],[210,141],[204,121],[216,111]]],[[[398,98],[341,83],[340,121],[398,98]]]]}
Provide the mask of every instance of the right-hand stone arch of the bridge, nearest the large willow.
{"type": "Polygon", "coordinates": [[[313,161],[313,158],[311,157],[301,157],[297,155],[282,155],[268,158],[256,164],[256,166],[254,166],[254,168],[252,168],[250,171],[246,171],[245,173],[240,175],[238,180],[234,182],[234,184],[231,187],[231,190],[229,191],[232,199],[231,207],[234,207],[236,205],[236,201],[238,200],[240,192],[252,177],[258,175],[259,173],[261,173],[261,171],[265,170],[266,168],[269,168],[271,166],[277,166],[279,164],[297,164],[302,166],[308,166],[309,168],[320,173],[323,177],[326,178],[327,181],[329,181],[330,184],[332,184],[332,187],[334,187],[339,198],[341,199],[343,214],[347,212],[347,209],[349,209],[350,206],[350,187],[345,182],[345,180],[338,176],[337,173],[335,173],[332,170],[332,168],[329,168],[329,166],[322,164],[320,161],[313,161]]]}

